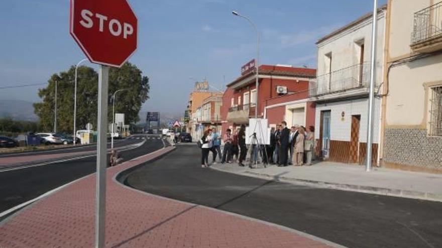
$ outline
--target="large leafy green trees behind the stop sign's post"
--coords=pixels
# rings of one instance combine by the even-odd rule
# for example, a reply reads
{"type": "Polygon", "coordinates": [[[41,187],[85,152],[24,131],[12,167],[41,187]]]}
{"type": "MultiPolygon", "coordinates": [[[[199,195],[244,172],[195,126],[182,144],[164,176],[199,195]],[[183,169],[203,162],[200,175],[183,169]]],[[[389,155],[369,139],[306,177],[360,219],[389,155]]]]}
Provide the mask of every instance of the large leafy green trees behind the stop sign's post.
{"type": "MultiPolygon", "coordinates": [[[[84,129],[87,123],[94,128],[97,126],[98,106],[98,74],[93,68],[81,66],[77,70],[77,113],[76,129],[84,129]]],[[[41,128],[45,131],[53,130],[55,82],[57,82],[57,131],[73,131],[74,112],[74,82],[75,67],[66,72],[54,74],[48,80],[48,86],[39,89],[42,102],[34,104],[34,112],[40,117],[41,128]]],[[[130,63],[121,68],[109,70],[109,107],[108,122],[112,122],[112,94],[117,89],[126,89],[117,93],[115,104],[116,113],[125,114],[126,124],[138,121],[138,112],[141,105],[149,98],[149,78],[142,76],[141,70],[130,63]]]]}

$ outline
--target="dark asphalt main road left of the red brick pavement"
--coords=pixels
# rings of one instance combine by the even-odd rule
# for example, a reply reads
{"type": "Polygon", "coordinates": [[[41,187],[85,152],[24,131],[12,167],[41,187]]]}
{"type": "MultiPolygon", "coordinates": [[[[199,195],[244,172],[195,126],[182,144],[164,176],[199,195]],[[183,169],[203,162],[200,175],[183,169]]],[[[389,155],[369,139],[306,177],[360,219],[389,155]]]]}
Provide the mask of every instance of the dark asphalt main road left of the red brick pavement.
{"type": "MultiPolygon", "coordinates": [[[[144,137],[140,136],[140,137],[144,137]]],[[[141,139],[136,143],[141,142],[141,139]]],[[[122,151],[130,160],[163,147],[160,139],[148,139],[142,146],[122,151]]],[[[0,172],[0,212],[34,199],[54,188],[95,172],[96,157],[87,157],[38,167],[0,172]]]]}

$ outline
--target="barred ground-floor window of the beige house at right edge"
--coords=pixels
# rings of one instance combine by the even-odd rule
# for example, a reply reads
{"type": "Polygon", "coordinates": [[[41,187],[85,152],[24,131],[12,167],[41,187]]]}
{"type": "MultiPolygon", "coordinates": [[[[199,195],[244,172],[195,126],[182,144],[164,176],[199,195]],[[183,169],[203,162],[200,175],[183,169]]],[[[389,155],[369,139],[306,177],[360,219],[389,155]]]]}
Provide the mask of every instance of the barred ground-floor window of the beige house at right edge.
{"type": "Polygon", "coordinates": [[[442,137],[442,86],[430,88],[429,135],[442,137]]]}

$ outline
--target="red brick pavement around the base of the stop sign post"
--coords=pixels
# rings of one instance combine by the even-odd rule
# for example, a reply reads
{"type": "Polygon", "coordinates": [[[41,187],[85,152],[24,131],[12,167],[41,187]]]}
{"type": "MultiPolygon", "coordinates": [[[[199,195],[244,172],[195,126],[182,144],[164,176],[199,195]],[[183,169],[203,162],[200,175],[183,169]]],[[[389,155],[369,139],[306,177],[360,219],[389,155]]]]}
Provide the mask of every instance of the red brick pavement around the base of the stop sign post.
{"type": "MultiPolygon", "coordinates": [[[[114,179],[172,149],[107,170],[106,247],[335,246],[262,221],[140,192],[114,179]]],[[[0,247],[93,247],[94,189],[95,176],[90,175],[3,221],[0,247]]]]}

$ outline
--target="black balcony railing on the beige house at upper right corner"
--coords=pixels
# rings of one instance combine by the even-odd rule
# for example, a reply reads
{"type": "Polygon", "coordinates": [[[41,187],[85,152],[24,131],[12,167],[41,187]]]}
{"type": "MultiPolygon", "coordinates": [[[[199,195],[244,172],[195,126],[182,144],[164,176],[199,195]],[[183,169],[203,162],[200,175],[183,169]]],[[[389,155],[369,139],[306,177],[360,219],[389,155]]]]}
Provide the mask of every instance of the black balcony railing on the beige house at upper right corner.
{"type": "Polygon", "coordinates": [[[442,2],[414,13],[411,45],[442,37],[442,2]]]}

